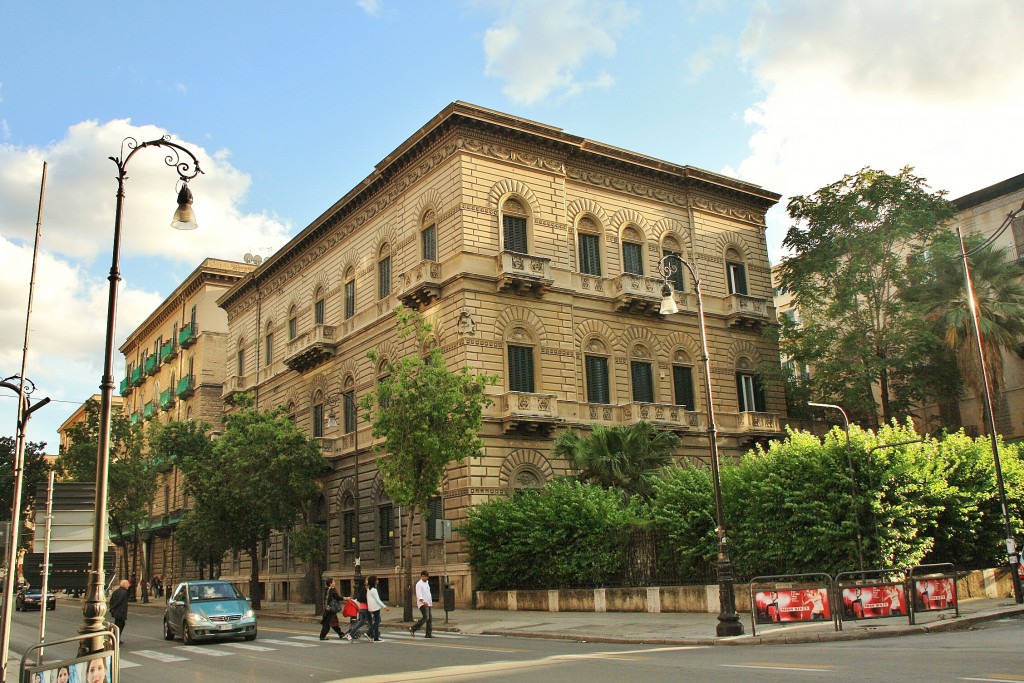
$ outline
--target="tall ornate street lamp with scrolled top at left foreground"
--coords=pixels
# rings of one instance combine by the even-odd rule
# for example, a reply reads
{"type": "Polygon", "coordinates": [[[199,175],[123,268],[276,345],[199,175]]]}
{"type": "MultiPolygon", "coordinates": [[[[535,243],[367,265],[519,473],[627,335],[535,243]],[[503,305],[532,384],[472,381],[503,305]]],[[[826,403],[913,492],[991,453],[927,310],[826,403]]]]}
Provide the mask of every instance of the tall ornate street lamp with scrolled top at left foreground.
{"type": "Polygon", "coordinates": [[[89,587],[86,589],[86,598],[82,604],[82,628],[79,633],[82,635],[95,634],[93,638],[83,639],[79,647],[80,654],[89,654],[103,649],[104,630],[103,615],[106,613],[106,602],[103,600],[103,553],[106,546],[106,479],[110,471],[111,456],[111,398],[114,393],[114,321],[118,303],[118,283],[121,281],[121,273],[118,270],[118,263],[121,257],[121,217],[124,210],[125,180],[128,178],[128,162],[139,150],[145,147],[167,147],[164,163],[174,168],[181,181],[178,191],[178,209],[174,212],[171,227],[176,229],[196,229],[199,225],[196,222],[196,215],[191,210],[191,193],[188,190],[188,181],[203,171],[199,167],[199,160],[191,152],[185,147],[171,142],[170,136],[165,135],[156,140],[139,142],[134,137],[126,137],[121,142],[121,156],[111,157],[118,167],[118,193],[117,206],[114,212],[114,254],[111,262],[110,293],[106,301],[106,339],[103,347],[103,377],[99,382],[99,444],[96,451],[96,500],[94,528],[92,535],[92,566],[89,570],[89,587]],[[128,151],[127,156],[125,150],[128,151]],[[184,153],[188,160],[182,161],[181,155],[184,153]]]}

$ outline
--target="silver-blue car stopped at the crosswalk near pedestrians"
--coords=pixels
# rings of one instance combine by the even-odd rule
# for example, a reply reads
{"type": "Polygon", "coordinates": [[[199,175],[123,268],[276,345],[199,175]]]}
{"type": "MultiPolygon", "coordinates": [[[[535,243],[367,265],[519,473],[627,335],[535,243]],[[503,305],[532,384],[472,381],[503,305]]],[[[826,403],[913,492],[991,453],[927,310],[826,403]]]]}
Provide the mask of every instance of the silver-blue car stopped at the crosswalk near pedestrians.
{"type": "Polygon", "coordinates": [[[164,638],[178,636],[186,645],[238,636],[256,640],[256,612],[249,598],[229,582],[182,582],[167,599],[164,611],[164,638]]]}

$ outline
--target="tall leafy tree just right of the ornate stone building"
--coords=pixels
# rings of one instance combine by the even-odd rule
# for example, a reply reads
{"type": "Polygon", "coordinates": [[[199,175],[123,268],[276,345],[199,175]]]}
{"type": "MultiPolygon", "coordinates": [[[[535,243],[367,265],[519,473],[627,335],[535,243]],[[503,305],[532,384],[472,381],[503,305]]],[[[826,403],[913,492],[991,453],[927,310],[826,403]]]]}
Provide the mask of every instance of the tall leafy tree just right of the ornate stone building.
{"type": "Polygon", "coordinates": [[[783,241],[794,255],[780,285],[803,324],[783,328],[780,351],[813,368],[818,396],[873,424],[878,405],[887,424],[956,385],[948,354],[902,296],[913,282],[908,263],[931,249],[955,207],[911,171],[864,168],[787,205],[797,222],[783,241]]]}

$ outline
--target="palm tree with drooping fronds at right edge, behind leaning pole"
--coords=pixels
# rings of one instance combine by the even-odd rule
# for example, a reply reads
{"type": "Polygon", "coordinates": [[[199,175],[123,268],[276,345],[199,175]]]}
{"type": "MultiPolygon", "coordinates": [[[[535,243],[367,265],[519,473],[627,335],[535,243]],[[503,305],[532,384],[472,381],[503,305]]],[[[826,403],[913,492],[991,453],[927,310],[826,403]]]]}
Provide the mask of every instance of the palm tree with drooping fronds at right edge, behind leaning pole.
{"type": "MultiPolygon", "coordinates": [[[[980,242],[981,238],[976,236],[966,240],[968,252],[972,252],[972,244],[977,246],[980,242]]],[[[935,253],[937,256],[929,264],[931,276],[915,288],[911,298],[922,307],[935,333],[956,354],[964,381],[976,396],[981,396],[984,385],[964,264],[958,256],[959,244],[954,237],[947,236],[937,245],[935,253]]],[[[993,404],[997,405],[1002,390],[1001,351],[1016,351],[1024,339],[1024,266],[1011,260],[1007,250],[991,247],[971,253],[969,259],[981,342],[989,369],[989,388],[993,404]]]]}

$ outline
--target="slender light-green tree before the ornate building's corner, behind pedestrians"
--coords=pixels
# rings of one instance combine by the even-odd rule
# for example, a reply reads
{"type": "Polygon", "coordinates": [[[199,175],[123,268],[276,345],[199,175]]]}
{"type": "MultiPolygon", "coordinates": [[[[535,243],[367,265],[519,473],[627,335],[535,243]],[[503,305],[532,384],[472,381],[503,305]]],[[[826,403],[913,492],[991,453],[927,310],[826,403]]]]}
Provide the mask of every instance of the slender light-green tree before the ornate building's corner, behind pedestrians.
{"type": "MultiPolygon", "coordinates": [[[[479,456],[483,442],[477,433],[482,411],[489,399],[483,390],[497,377],[473,374],[468,368],[452,372],[436,344],[430,325],[416,311],[395,309],[398,337],[414,338],[416,351],[402,358],[388,358],[386,377],[377,391],[366,394],[360,405],[373,423],[374,445],[384,489],[409,511],[406,524],[404,620],[413,617],[413,520],[426,517],[437,497],[449,463],[479,456]],[[422,351],[422,354],[421,354],[422,351]]],[[[376,364],[379,356],[371,351],[376,364]]]]}

